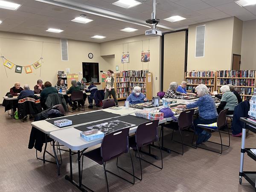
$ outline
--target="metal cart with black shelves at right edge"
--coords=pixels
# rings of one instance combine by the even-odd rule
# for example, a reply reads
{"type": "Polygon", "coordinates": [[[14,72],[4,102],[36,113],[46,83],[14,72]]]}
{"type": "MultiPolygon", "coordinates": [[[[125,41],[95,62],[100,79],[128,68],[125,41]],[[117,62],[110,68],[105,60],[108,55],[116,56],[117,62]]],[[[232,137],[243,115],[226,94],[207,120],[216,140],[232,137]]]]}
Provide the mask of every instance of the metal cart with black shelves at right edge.
{"type": "Polygon", "coordinates": [[[255,172],[244,172],[244,153],[246,152],[249,157],[256,161],[256,154],[254,154],[250,149],[251,148],[244,148],[245,145],[245,134],[246,129],[256,133],[256,122],[252,122],[247,118],[240,118],[241,122],[244,122],[243,132],[242,132],[242,141],[241,141],[241,156],[240,156],[240,171],[239,171],[239,183],[242,183],[242,177],[244,177],[253,187],[254,191],[256,192],[256,171],[255,172]],[[250,126],[247,126],[250,125],[250,126]]]}

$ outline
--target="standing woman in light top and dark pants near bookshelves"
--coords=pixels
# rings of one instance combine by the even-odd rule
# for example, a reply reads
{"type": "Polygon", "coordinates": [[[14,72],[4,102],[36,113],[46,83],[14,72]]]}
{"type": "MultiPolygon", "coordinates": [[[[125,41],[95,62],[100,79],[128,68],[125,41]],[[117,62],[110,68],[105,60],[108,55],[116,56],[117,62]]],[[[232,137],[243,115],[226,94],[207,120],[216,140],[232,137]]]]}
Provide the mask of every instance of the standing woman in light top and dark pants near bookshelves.
{"type": "Polygon", "coordinates": [[[105,89],[105,98],[108,99],[110,95],[112,95],[113,99],[115,100],[116,107],[118,107],[118,102],[116,99],[116,90],[114,87],[114,81],[115,78],[112,76],[114,72],[112,70],[107,70],[107,75],[108,77],[105,79],[106,82],[106,89],[105,89]]]}

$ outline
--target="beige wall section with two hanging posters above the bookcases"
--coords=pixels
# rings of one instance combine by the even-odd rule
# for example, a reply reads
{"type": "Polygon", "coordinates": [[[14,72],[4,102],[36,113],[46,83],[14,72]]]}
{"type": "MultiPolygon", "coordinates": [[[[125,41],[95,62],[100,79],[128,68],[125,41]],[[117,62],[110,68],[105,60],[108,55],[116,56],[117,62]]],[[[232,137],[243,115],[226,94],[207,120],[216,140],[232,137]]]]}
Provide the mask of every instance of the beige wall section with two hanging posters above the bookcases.
{"type": "MultiPolygon", "coordinates": [[[[116,66],[119,66],[119,71],[122,70],[146,70],[153,73],[153,85],[152,94],[156,95],[160,88],[160,37],[148,37],[145,35],[139,35],[131,38],[124,38],[115,41],[108,41],[102,43],[100,46],[101,55],[115,55],[113,59],[109,59],[108,64],[111,65],[111,69],[116,71],[116,66]],[[141,51],[146,52],[150,50],[150,62],[142,63],[140,61],[141,51]],[[143,49],[142,49],[143,43],[143,49]],[[123,45],[124,44],[124,45],[123,45]],[[122,52],[130,54],[130,63],[121,64],[122,52]],[[156,80],[157,77],[157,80],[156,80]]],[[[105,58],[105,57],[104,57],[105,58]]]]}

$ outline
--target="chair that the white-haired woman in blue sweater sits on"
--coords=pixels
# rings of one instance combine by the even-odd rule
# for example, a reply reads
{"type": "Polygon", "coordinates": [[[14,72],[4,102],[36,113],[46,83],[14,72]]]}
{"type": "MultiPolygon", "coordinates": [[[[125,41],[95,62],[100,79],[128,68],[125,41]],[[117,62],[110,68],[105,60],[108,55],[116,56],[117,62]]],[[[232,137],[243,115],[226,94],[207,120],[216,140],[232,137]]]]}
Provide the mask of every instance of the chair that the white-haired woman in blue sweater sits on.
{"type": "MultiPolygon", "coordinates": [[[[211,131],[218,131],[219,132],[221,143],[215,143],[215,142],[212,142],[212,141],[207,141],[207,142],[215,143],[217,145],[221,145],[221,151],[219,152],[219,151],[211,150],[209,148],[204,148],[204,147],[198,146],[197,144],[194,145],[194,146],[196,146],[198,148],[203,148],[203,149],[206,149],[208,151],[215,152],[215,153],[219,153],[219,154],[222,154],[223,146],[226,146],[228,148],[230,147],[230,134],[229,134],[229,130],[227,129],[227,131],[228,131],[228,139],[229,139],[229,144],[228,145],[224,145],[222,143],[221,133],[224,133],[224,132],[220,131],[220,128],[223,128],[223,127],[227,126],[227,119],[226,119],[227,111],[228,111],[228,109],[224,109],[224,110],[222,110],[219,113],[218,118],[217,118],[217,122],[215,123],[215,126],[209,126],[209,125],[203,125],[203,124],[198,124],[197,125],[200,128],[206,128],[206,129],[209,129],[211,131]]],[[[194,132],[194,135],[193,135],[192,143],[193,143],[194,137],[195,137],[195,132],[194,132]]]]}

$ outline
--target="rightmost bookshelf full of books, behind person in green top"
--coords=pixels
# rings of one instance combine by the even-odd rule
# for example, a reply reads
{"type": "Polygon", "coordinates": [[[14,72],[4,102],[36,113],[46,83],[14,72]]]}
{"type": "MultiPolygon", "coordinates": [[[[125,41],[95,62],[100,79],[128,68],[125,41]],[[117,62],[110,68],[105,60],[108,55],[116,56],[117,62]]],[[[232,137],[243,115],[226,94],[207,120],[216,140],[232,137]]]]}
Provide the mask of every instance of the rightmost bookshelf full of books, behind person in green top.
{"type": "Polygon", "coordinates": [[[253,94],[256,82],[255,70],[221,70],[217,72],[216,91],[225,84],[232,84],[242,96],[243,101],[253,94]]]}

